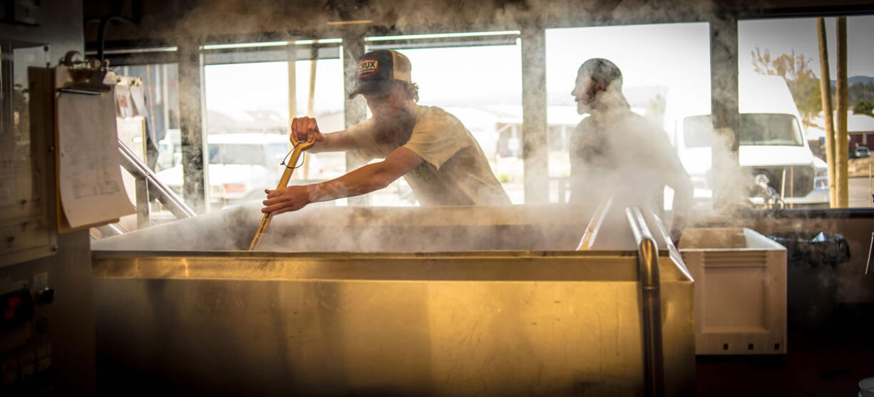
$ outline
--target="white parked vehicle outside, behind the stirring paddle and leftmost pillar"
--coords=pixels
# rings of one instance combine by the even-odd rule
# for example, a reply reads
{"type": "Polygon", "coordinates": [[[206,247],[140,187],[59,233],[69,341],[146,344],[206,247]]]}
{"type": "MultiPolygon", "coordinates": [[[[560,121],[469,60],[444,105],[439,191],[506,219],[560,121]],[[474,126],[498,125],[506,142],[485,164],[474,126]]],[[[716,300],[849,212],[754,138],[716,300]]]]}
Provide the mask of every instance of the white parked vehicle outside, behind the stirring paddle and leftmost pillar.
{"type": "MultiPolygon", "coordinates": [[[[237,203],[263,199],[264,189],[274,189],[289,151],[288,136],[280,134],[213,134],[208,136],[209,197],[212,202],[237,203]]],[[[318,174],[315,156],[309,157],[311,175],[318,174]]],[[[182,192],[183,164],[157,173],[161,181],[182,192]]]]}

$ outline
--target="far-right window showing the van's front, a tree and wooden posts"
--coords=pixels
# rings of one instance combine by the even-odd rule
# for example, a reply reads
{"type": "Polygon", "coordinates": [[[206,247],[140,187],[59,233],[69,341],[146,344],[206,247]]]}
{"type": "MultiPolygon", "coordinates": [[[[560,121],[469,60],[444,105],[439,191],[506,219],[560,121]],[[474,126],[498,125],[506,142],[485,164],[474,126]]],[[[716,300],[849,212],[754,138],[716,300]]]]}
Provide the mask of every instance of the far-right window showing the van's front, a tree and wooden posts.
{"type": "MultiPolygon", "coordinates": [[[[825,22],[834,95],[836,21],[834,17],[827,17],[825,22]]],[[[822,73],[815,18],[740,21],[738,35],[741,167],[752,170],[755,175],[771,175],[768,184],[781,193],[787,206],[828,207],[828,164],[825,163],[820,91],[822,73]],[[767,114],[767,120],[759,114],[767,114]],[[744,120],[751,117],[761,122],[745,124],[744,120]],[[793,186],[794,191],[787,186],[793,186]]],[[[874,205],[868,152],[868,142],[874,137],[874,115],[871,115],[874,42],[871,37],[874,37],[874,17],[847,17],[850,207],[874,205]]]]}

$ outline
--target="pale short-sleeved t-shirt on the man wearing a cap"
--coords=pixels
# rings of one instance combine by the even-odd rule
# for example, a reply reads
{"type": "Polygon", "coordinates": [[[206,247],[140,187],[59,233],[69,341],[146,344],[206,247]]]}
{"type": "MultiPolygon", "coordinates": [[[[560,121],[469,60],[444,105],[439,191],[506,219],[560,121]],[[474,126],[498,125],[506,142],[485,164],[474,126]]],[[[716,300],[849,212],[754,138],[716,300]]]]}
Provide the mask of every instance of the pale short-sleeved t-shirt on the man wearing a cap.
{"type": "MultiPolygon", "coordinates": [[[[378,143],[375,128],[371,118],[347,129],[357,144],[352,152],[364,162],[385,158],[399,147],[378,143]]],[[[474,136],[445,110],[417,106],[413,134],[403,147],[425,160],[404,176],[421,205],[510,204],[474,136]]]]}

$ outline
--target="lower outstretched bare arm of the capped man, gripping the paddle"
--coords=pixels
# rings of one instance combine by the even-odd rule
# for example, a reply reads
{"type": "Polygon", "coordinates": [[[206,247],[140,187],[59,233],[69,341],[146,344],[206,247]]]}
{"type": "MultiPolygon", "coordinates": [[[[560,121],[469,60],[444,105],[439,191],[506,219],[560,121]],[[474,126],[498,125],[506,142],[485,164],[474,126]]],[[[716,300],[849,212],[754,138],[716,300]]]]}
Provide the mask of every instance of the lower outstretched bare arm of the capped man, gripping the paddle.
{"type": "Polygon", "coordinates": [[[424,160],[412,150],[400,147],[389,153],[385,160],[367,164],[340,178],[315,185],[288,186],[275,191],[266,190],[267,199],[261,212],[297,211],[309,203],[342,199],[377,191],[403,177],[424,160]]]}

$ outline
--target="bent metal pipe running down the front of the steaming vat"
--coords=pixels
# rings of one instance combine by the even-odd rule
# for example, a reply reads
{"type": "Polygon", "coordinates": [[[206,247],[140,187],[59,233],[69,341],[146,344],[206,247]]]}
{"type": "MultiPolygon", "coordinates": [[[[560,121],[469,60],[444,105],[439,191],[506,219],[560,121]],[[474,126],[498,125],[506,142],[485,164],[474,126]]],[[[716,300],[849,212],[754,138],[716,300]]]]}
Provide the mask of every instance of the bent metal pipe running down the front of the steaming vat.
{"type": "Polygon", "coordinates": [[[643,324],[644,395],[664,395],[662,354],[662,296],[659,290],[658,247],[640,208],[625,209],[628,225],[637,242],[637,268],[641,280],[643,324]]]}

